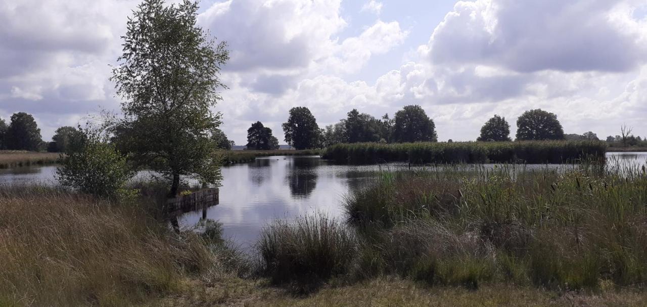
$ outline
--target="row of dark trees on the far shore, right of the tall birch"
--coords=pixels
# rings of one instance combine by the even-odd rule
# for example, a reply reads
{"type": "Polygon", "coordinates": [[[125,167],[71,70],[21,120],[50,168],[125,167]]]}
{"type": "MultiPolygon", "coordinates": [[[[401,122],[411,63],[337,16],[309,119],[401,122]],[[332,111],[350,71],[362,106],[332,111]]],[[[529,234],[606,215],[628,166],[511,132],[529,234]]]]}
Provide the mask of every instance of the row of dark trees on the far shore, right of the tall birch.
{"type": "MultiPolygon", "coordinates": [[[[516,140],[519,141],[574,138],[574,135],[564,135],[562,124],[554,113],[542,109],[525,111],[516,124],[516,140]]],[[[345,119],[323,129],[319,128],[308,108],[295,107],[290,109],[288,120],[282,127],[285,142],[298,150],[338,143],[437,141],[433,120],[417,105],[405,106],[395,113],[393,119],[390,119],[388,114],[376,119],[353,109],[347,113],[345,119]]],[[[597,139],[597,135],[591,131],[576,136],[578,139],[597,139]]],[[[505,117],[494,115],[481,128],[477,141],[512,141],[510,124],[505,117]]],[[[272,136],[270,128],[256,122],[247,130],[247,148],[269,150],[278,148],[278,142],[276,137],[272,136]]]]}

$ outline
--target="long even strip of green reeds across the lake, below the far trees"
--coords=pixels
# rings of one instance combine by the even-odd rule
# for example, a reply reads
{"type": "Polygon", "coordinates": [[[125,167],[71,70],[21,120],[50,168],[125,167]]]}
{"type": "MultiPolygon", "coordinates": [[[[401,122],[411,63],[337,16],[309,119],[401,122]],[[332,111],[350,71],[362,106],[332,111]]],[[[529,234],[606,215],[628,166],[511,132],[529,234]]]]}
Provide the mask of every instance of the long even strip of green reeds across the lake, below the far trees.
{"type": "Polygon", "coordinates": [[[591,141],[420,142],[336,144],[323,158],[338,163],[566,163],[604,157],[606,144],[591,141]]]}

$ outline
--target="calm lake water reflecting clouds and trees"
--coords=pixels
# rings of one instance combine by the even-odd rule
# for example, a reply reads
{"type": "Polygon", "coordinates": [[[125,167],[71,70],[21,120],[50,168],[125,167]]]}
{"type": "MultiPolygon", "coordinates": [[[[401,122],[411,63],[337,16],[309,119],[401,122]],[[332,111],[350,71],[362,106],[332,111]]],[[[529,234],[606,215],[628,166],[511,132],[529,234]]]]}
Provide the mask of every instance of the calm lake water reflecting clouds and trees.
{"type": "MultiPolygon", "coordinates": [[[[643,165],[645,152],[607,153],[611,159],[643,165]]],[[[489,165],[493,166],[493,165],[489,165]]],[[[545,168],[529,165],[527,168],[545,168]]],[[[548,167],[560,167],[550,165],[548,167]]],[[[222,223],[226,238],[243,248],[252,246],[264,225],[276,218],[322,212],[342,215],[344,197],[366,187],[375,171],[408,168],[406,163],[389,165],[335,165],[318,156],[259,157],[250,163],[223,167],[219,205],[206,212],[189,212],[179,217],[181,227],[191,228],[206,218],[222,223]]],[[[56,166],[22,167],[0,170],[0,184],[56,184],[56,166]]]]}

